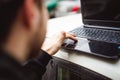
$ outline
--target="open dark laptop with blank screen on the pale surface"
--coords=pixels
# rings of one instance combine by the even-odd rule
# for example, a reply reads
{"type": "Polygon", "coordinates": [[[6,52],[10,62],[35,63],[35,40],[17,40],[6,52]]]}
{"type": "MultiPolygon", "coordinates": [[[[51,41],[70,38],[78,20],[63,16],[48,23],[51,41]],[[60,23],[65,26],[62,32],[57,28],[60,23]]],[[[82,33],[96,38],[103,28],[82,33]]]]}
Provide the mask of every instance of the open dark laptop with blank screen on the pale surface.
{"type": "Polygon", "coordinates": [[[120,56],[120,0],[81,0],[84,25],[70,31],[78,42],[66,39],[63,48],[118,59],[120,56]]]}

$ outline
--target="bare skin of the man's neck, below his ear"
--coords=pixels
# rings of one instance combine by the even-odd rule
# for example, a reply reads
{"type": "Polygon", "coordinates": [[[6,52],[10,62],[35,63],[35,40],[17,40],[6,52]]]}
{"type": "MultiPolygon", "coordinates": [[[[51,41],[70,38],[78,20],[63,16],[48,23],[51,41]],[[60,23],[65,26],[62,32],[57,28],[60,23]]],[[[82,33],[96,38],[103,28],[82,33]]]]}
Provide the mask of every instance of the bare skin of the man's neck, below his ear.
{"type": "MultiPolygon", "coordinates": [[[[17,30],[16,30],[17,31],[17,30]]],[[[9,52],[8,55],[12,56],[20,63],[24,63],[28,57],[28,41],[24,32],[11,33],[7,43],[4,45],[4,49],[9,52]]]]}

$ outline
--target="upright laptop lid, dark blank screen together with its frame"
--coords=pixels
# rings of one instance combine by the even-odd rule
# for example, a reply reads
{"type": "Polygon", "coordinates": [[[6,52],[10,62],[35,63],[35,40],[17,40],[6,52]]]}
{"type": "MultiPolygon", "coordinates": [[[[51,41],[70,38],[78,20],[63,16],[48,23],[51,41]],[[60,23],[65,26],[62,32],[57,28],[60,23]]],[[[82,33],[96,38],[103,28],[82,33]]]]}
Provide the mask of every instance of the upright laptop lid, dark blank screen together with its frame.
{"type": "Polygon", "coordinates": [[[120,0],[81,0],[84,24],[119,27],[120,0]]]}

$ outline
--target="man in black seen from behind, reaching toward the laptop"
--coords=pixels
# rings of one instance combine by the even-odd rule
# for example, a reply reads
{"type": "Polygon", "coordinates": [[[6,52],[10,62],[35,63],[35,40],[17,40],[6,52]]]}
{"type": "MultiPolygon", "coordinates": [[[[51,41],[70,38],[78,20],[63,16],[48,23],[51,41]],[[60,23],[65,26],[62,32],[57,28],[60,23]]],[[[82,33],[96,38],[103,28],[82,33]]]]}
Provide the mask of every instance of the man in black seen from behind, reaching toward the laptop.
{"type": "Polygon", "coordinates": [[[64,39],[77,41],[61,32],[42,46],[47,18],[44,0],[0,0],[0,80],[41,80],[64,39]]]}

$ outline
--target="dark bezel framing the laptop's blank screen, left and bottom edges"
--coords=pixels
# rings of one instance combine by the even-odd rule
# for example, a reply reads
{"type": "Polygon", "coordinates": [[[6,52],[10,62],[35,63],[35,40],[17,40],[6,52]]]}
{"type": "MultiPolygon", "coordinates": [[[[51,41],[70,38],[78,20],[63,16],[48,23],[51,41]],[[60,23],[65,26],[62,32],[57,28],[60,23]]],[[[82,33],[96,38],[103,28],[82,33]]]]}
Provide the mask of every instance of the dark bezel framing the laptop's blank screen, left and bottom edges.
{"type": "MultiPolygon", "coordinates": [[[[102,26],[104,27],[108,27],[108,28],[118,28],[120,30],[120,21],[109,21],[109,20],[93,20],[93,19],[85,19],[83,14],[84,14],[84,10],[82,7],[83,5],[83,1],[81,1],[81,13],[82,13],[82,21],[84,25],[94,25],[94,26],[102,26]]],[[[89,26],[92,27],[92,26],[89,26]]],[[[99,28],[99,27],[98,27],[99,28]]]]}

